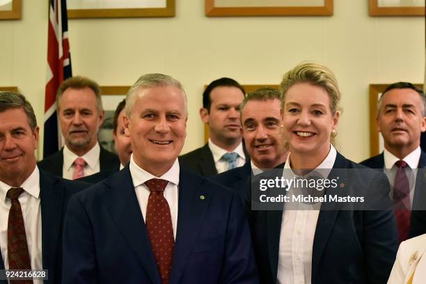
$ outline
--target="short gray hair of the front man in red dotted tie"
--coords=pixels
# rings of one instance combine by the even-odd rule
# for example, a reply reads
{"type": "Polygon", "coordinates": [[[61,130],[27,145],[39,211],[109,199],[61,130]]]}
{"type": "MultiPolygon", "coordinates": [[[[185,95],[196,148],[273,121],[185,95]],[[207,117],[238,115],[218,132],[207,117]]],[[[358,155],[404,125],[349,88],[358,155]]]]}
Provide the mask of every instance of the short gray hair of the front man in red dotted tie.
{"type": "Polygon", "coordinates": [[[134,104],[136,102],[136,99],[138,97],[141,97],[141,93],[137,93],[138,90],[141,90],[143,88],[152,88],[152,87],[165,87],[165,86],[175,86],[179,90],[182,91],[182,94],[184,96],[184,107],[185,107],[185,115],[188,116],[188,107],[187,107],[187,93],[185,93],[185,90],[180,84],[180,81],[174,79],[171,76],[159,74],[159,73],[152,73],[152,74],[144,74],[142,75],[135,84],[133,84],[132,87],[130,87],[129,91],[127,92],[126,97],[126,106],[125,106],[125,113],[127,117],[132,116],[132,111],[134,108],[134,104]]]}

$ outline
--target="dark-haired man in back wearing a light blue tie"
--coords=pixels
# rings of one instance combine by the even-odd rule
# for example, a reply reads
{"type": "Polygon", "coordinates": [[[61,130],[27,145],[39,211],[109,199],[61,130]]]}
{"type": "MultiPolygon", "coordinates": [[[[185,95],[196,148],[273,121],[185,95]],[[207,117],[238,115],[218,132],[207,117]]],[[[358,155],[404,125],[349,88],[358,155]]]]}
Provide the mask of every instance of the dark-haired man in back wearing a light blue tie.
{"type": "Polygon", "coordinates": [[[245,94],[244,88],[230,78],[214,80],[205,88],[200,117],[209,125],[210,139],[203,147],[180,156],[182,166],[210,177],[248,161],[239,120],[239,105],[245,94]]]}

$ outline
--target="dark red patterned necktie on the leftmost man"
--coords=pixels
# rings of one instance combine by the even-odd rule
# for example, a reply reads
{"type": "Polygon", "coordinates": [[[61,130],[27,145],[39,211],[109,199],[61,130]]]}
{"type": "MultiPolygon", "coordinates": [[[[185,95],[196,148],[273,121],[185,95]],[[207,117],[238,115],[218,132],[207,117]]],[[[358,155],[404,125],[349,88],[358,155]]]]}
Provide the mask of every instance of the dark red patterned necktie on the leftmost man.
{"type": "MultiPolygon", "coordinates": [[[[24,217],[22,216],[21,204],[18,197],[24,189],[12,187],[6,196],[10,198],[12,205],[8,217],[8,258],[9,269],[31,269],[28,244],[26,244],[24,217]]],[[[11,283],[27,284],[32,280],[12,281],[11,283]]]]}

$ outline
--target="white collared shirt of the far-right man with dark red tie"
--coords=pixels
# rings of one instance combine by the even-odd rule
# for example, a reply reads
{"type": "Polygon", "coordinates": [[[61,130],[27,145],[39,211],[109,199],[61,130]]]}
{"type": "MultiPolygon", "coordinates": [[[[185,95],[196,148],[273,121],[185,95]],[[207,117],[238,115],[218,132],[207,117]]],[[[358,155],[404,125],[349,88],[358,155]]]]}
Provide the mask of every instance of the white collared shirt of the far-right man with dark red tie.
{"type": "MultiPolygon", "coordinates": [[[[420,146],[418,146],[416,150],[413,150],[413,152],[409,153],[409,155],[402,159],[408,165],[405,168],[405,174],[407,175],[407,178],[409,180],[411,205],[413,205],[414,190],[416,189],[417,167],[418,161],[420,161],[420,155],[422,155],[422,150],[420,149],[420,146]]],[[[397,172],[397,166],[395,166],[395,162],[399,161],[400,159],[395,157],[391,152],[386,149],[383,151],[383,158],[384,173],[386,173],[386,175],[388,176],[388,180],[390,183],[390,197],[392,198],[393,184],[395,183],[395,175],[397,172]]]]}

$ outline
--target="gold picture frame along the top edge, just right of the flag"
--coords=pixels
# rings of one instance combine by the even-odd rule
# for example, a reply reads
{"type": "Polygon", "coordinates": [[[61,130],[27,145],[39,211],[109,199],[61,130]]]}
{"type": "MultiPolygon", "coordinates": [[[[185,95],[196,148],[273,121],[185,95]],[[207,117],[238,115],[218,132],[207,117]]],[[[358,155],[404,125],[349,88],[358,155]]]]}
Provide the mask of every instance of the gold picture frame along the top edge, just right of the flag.
{"type": "Polygon", "coordinates": [[[166,6],[161,8],[73,9],[68,4],[68,19],[116,17],[175,17],[175,0],[166,0],[166,6]]]}

